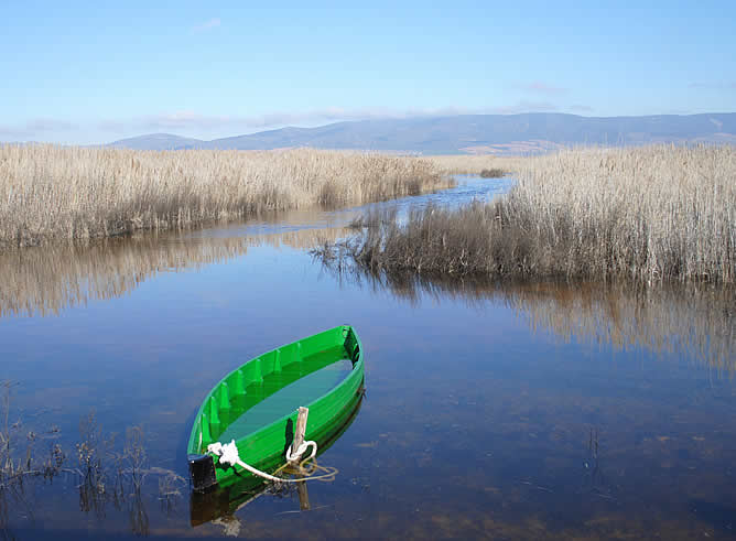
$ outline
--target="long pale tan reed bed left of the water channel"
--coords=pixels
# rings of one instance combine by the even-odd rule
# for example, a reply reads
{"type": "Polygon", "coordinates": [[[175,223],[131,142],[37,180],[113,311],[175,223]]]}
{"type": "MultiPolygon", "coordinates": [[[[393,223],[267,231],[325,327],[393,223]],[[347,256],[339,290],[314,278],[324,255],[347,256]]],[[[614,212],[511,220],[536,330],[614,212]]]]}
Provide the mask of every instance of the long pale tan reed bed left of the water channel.
{"type": "Polygon", "coordinates": [[[0,247],[359,205],[448,182],[427,161],[376,154],[0,145],[0,247]]]}

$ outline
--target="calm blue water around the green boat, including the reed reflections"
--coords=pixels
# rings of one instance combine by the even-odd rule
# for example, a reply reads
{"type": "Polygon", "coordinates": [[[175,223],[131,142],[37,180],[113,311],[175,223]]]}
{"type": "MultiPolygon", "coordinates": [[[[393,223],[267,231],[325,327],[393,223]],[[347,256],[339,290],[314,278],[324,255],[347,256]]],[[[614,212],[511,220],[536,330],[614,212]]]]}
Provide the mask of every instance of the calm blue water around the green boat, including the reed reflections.
{"type": "MultiPolygon", "coordinates": [[[[456,205],[509,182],[462,178],[398,204],[456,205]]],[[[66,456],[53,480],[0,490],[2,534],[736,537],[733,295],[415,283],[313,261],[357,214],[1,256],[8,431],[22,456],[66,456]],[[267,491],[193,527],[201,504],[176,476],[203,397],[245,360],[342,323],[362,339],[367,396],[320,456],[336,479],[309,484],[309,511],[267,491]],[[84,442],[104,488],[79,487],[84,442]]]]}

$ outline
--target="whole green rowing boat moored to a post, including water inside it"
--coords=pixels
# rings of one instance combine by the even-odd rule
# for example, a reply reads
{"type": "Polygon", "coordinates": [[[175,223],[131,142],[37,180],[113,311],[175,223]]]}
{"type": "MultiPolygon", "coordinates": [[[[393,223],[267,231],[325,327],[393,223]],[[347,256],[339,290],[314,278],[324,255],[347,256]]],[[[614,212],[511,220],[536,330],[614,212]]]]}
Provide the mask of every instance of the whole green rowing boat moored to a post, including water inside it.
{"type": "Polygon", "coordinates": [[[193,489],[262,483],[238,464],[223,464],[208,451],[212,444],[234,441],[241,462],[273,472],[286,462],[299,407],[310,410],[304,439],[320,445],[339,433],[362,394],[362,347],[349,325],[247,361],[223,378],[197,411],[187,445],[193,489]]]}

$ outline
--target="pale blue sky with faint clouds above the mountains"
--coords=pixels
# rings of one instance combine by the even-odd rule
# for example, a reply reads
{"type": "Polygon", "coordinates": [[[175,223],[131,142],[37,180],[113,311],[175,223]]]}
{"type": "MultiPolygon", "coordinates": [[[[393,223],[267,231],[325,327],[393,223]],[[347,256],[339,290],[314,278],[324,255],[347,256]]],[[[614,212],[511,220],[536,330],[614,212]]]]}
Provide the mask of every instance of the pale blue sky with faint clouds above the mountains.
{"type": "Polygon", "coordinates": [[[733,1],[109,3],[3,1],[0,141],[736,111],[733,1]]]}

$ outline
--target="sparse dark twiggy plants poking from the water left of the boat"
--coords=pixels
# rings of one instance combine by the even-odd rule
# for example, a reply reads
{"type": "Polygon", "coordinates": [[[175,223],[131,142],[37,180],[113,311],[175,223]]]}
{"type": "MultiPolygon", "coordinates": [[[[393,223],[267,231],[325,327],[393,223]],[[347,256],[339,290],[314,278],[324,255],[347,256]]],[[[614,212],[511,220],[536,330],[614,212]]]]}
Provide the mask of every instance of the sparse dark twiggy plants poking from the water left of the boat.
{"type": "MultiPolygon", "coordinates": [[[[39,430],[12,411],[15,383],[0,381],[0,532],[10,534],[9,508],[33,516],[39,485],[68,485],[79,498],[79,511],[104,520],[108,507],[125,511],[137,535],[149,532],[144,484],[158,479],[158,499],[164,511],[183,497],[186,479],[176,473],[150,466],[140,426],[126,430],[125,439],[105,433],[94,411],[79,421],[79,435],[71,455],[63,451],[61,431],[52,425],[39,430]]],[[[4,537],[4,535],[3,535],[4,537]]]]}

